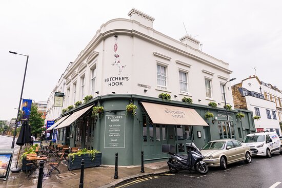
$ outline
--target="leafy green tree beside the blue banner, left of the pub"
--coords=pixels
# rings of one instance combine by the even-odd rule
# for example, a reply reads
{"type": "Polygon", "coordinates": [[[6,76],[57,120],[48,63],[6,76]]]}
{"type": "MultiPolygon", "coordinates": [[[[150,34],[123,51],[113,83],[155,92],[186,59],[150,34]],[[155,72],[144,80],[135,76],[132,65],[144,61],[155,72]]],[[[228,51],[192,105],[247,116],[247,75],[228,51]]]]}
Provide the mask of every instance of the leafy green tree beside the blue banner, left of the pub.
{"type": "Polygon", "coordinates": [[[32,103],[31,105],[31,112],[29,116],[29,123],[31,126],[31,134],[41,134],[42,131],[45,130],[44,127],[44,119],[41,117],[42,113],[37,111],[37,106],[32,103]]]}

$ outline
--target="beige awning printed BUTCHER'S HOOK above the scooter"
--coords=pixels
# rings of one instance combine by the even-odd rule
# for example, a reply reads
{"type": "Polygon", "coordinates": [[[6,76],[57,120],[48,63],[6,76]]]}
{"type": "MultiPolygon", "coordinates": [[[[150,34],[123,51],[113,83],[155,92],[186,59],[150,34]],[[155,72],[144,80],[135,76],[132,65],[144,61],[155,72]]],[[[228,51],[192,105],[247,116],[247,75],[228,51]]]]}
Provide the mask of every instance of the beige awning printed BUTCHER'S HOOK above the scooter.
{"type": "Polygon", "coordinates": [[[142,105],[144,106],[153,123],[156,124],[209,126],[194,109],[159,105],[150,102],[142,102],[142,105]]]}

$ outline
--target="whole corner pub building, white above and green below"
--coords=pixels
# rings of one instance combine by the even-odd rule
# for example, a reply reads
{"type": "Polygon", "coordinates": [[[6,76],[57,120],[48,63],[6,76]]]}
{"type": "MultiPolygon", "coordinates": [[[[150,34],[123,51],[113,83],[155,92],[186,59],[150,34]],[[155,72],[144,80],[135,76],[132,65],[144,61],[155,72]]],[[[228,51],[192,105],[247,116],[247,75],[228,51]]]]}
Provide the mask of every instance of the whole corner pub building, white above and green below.
{"type": "MultiPolygon", "coordinates": [[[[153,29],[154,18],[132,9],[130,19],[117,18],[103,24],[90,43],[70,63],[48,99],[46,120],[53,138],[70,147],[97,149],[103,164],[139,165],[165,160],[162,144],[172,144],[186,154],[186,144],[198,148],[215,139],[229,138],[223,98],[224,83],[232,71],[226,62],[198,49],[199,41],[185,35],[177,41],[153,29]],[[54,93],[65,93],[64,107],[83,101],[65,113],[54,107],[54,93]],[[160,93],[170,100],[158,98],[160,93]],[[182,99],[191,98],[192,103],[182,99]],[[126,111],[137,106],[136,115],[126,111]],[[208,106],[215,102],[217,107],[208,106]],[[93,118],[93,106],[104,113],[93,118]],[[213,118],[205,118],[207,112],[213,118]]],[[[230,82],[225,87],[227,103],[233,105],[230,82]]],[[[228,111],[232,137],[241,141],[255,131],[252,112],[228,111]]]]}

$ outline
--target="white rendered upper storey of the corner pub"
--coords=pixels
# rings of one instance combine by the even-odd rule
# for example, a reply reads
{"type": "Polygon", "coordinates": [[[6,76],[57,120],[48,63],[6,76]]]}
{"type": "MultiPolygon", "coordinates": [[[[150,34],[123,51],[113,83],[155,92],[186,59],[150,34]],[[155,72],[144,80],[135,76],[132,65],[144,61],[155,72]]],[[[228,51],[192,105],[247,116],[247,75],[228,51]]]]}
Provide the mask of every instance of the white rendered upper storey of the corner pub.
{"type": "MultiPolygon", "coordinates": [[[[168,93],[171,100],[189,97],[195,104],[212,101],[223,108],[220,85],[229,80],[229,64],[200,51],[199,41],[190,36],[177,41],[155,31],[151,16],[136,9],[129,16],[112,19],[98,29],[50,94],[46,119],[62,112],[52,106],[54,92],[65,93],[63,108],[87,95],[95,98],[112,92],[156,98],[168,93]]],[[[230,82],[225,93],[227,103],[234,106],[230,82]]]]}

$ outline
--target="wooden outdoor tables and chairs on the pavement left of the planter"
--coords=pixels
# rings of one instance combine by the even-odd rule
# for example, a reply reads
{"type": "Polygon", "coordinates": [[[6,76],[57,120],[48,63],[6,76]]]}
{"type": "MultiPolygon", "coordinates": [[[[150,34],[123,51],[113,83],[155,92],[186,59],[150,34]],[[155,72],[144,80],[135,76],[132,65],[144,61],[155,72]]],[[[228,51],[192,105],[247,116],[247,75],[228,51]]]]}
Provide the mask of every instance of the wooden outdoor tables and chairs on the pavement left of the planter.
{"type": "Polygon", "coordinates": [[[26,166],[27,177],[30,177],[32,174],[37,174],[40,161],[44,161],[44,168],[48,169],[48,174],[44,174],[44,176],[51,176],[51,174],[56,171],[60,174],[59,166],[61,166],[60,168],[65,166],[67,170],[68,155],[78,152],[79,148],[70,148],[68,145],[63,145],[61,140],[57,140],[55,142],[42,141],[34,145],[27,144],[25,151],[21,159],[22,165],[26,166]],[[23,160],[24,158],[26,160],[23,160]]]}

